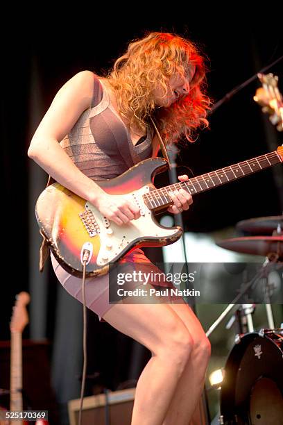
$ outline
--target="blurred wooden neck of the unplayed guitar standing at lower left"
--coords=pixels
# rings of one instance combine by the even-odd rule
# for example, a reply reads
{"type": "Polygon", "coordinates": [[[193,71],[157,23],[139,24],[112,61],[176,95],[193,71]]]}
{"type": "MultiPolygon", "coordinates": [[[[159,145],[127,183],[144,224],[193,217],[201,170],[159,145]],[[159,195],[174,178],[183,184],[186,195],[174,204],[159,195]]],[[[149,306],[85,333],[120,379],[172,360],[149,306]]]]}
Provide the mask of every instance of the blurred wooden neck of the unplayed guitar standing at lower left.
{"type": "MultiPolygon", "coordinates": [[[[10,358],[10,410],[23,410],[21,332],[11,332],[10,358]]],[[[17,421],[17,424],[19,424],[19,421],[17,421]]]]}

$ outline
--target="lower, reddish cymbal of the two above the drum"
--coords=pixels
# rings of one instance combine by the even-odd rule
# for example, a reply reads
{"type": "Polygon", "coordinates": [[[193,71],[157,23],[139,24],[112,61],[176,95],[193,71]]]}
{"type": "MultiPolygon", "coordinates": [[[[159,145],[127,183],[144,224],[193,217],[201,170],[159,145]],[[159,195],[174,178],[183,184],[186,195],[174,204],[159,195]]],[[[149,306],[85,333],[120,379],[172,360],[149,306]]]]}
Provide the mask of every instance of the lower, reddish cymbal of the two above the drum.
{"type": "Polygon", "coordinates": [[[268,256],[277,253],[283,257],[283,235],[277,236],[243,236],[242,238],[225,239],[217,242],[221,248],[256,256],[268,256]]]}

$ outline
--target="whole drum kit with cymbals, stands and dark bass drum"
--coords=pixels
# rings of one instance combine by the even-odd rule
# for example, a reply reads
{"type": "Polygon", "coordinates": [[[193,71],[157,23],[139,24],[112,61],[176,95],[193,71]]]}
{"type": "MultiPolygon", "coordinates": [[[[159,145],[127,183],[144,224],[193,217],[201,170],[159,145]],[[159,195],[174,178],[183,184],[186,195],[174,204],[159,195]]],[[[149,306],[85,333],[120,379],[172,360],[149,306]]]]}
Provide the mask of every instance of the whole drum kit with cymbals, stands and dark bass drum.
{"type": "Polygon", "coordinates": [[[230,310],[238,307],[230,320],[237,321],[239,333],[223,369],[218,418],[221,425],[283,424],[283,326],[274,326],[270,299],[265,305],[268,328],[259,331],[252,324],[255,304],[237,304],[251,285],[268,276],[271,263],[276,263],[278,269],[283,267],[282,229],[283,215],[248,219],[237,224],[237,230],[248,236],[217,243],[225,249],[266,257],[257,276],[207,331],[209,336],[230,310]]]}

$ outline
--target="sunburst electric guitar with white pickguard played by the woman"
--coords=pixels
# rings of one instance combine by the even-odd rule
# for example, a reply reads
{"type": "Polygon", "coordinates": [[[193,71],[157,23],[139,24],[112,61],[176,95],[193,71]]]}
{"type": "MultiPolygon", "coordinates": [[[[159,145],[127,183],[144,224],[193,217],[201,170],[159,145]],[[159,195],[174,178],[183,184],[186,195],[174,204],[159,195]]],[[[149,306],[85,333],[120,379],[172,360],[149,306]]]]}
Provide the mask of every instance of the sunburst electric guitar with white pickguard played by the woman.
{"type": "MultiPolygon", "coordinates": [[[[268,94],[268,108],[276,113],[270,101],[268,94]]],[[[263,103],[264,99],[261,99],[261,105],[263,103]]],[[[278,147],[266,155],[157,189],[153,185],[153,178],[155,174],[163,172],[168,163],[163,158],[150,158],[120,176],[96,181],[108,194],[132,199],[140,210],[138,219],[118,226],[101,215],[92,203],[59,183],[53,183],[37,199],[37,223],[53,255],[67,272],[79,277],[83,275],[81,253],[82,247],[88,243],[92,252],[86,266],[86,276],[101,276],[108,273],[110,263],[118,261],[136,247],[162,247],[180,238],[180,226],[167,228],[155,219],[156,211],[164,210],[173,203],[168,192],[183,188],[194,195],[282,162],[283,147],[278,147]]]]}

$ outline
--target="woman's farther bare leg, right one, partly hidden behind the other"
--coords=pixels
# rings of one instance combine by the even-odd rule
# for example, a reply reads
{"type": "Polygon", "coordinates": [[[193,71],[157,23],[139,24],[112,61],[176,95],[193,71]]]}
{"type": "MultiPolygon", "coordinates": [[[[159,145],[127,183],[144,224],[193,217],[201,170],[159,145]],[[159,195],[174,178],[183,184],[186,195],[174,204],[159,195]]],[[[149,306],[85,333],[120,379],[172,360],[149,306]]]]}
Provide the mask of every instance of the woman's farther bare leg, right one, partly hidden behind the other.
{"type": "Polygon", "coordinates": [[[196,419],[200,416],[197,406],[203,392],[210,344],[196,315],[185,301],[183,304],[170,304],[170,307],[182,319],[194,338],[194,349],[178,381],[163,425],[187,425],[190,419],[192,419],[191,425],[199,424],[199,420],[196,419]]]}

